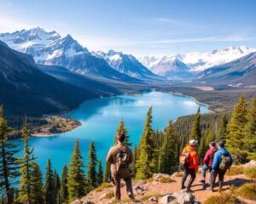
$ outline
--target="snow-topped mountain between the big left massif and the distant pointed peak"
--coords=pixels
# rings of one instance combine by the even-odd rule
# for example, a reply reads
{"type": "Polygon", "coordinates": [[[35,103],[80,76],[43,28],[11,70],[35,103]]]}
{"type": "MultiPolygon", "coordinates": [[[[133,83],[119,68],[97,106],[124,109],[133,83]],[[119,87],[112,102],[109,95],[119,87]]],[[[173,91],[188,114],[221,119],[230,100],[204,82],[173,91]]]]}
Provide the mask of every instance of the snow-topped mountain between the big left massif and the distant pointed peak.
{"type": "Polygon", "coordinates": [[[108,65],[114,70],[124,73],[125,75],[140,79],[163,79],[149,71],[148,68],[141,64],[131,54],[123,54],[122,52],[115,52],[113,50],[109,50],[108,53],[99,51],[94,54],[97,57],[105,59],[108,62],[108,65]]]}

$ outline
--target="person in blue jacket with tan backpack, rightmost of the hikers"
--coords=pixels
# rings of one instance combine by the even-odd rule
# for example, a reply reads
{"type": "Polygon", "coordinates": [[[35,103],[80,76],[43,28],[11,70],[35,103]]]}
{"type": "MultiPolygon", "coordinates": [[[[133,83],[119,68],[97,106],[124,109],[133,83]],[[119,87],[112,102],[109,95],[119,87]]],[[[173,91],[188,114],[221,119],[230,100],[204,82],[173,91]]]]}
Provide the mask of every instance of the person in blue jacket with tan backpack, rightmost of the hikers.
{"type": "Polygon", "coordinates": [[[212,172],[210,177],[210,187],[208,190],[211,190],[213,192],[215,179],[218,175],[218,191],[222,190],[223,183],[224,183],[224,175],[226,171],[231,167],[232,165],[232,156],[230,155],[230,152],[225,149],[224,147],[224,140],[221,140],[218,142],[218,150],[213,156],[213,162],[212,162],[212,172]]]}

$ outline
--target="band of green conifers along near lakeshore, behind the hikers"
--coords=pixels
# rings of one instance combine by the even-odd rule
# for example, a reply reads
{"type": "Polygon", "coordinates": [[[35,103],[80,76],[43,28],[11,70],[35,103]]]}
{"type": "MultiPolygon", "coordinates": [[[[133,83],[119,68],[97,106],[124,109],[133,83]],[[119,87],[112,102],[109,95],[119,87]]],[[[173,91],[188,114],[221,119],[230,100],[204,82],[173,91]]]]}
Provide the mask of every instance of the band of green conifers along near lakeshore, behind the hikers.
{"type": "MultiPolygon", "coordinates": [[[[241,96],[231,113],[201,115],[200,108],[194,116],[185,116],[177,122],[168,122],[163,131],[152,127],[153,108],[145,118],[143,134],[138,146],[135,145],[131,172],[136,179],[152,177],[153,173],[172,174],[178,168],[178,156],[189,139],[199,141],[200,161],[210,141],[225,139],[227,147],[237,163],[256,159],[256,97],[250,105],[241,96]]],[[[0,192],[2,203],[69,203],[94,190],[102,182],[109,182],[109,165],[105,172],[102,161],[97,160],[96,147],[90,143],[89,163],[86,173],[79,140],[76,140],[73,155],[68,166],[64,166],[61,178],[53,171],[51,161],[46,167],[45,182],[33,155],[33,147],[28,144],[30,130],[26,124],[22,128],[24,156],[16,158],[17,147],[8,140],[12,131],[0,108],[0,192]],[[20,179],[19,179],[20,178],[20,179]],[[19,181],[19,188],[15,184],[19,181]]],[[[125,144],[131,146],[129,132],[121,120],[117,133],[126,134],[125,144]]]]}

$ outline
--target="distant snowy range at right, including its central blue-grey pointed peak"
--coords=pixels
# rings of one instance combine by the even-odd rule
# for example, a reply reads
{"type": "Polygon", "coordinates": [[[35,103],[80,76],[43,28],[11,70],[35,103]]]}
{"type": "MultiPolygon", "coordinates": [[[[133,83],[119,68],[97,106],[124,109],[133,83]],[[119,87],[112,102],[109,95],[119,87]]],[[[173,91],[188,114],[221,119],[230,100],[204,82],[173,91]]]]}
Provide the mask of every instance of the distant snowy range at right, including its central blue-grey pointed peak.
{"type": "MultiPolygon", "coordinates": [[[[175,54],[164,57],[145,56],[138,59],[143,65],[147,66],[149,70],[161,76],[168,77],[173,69],[174,71],[179,69],[179,71],[183,73],[183,76],[188,78],[210,67],[223,65],[253,52],[256,52],[256,48],[241,46],[239,48],[228,47],[215,49],[206,53],[175,54]],[[179,63],[177,63],[177,61],[179,63]],[[190,76],[188,75],[188,71],[191,73],[190,76]]],[[[172,73],[172,75],[175,76],[175,73],[172,73]]]]}

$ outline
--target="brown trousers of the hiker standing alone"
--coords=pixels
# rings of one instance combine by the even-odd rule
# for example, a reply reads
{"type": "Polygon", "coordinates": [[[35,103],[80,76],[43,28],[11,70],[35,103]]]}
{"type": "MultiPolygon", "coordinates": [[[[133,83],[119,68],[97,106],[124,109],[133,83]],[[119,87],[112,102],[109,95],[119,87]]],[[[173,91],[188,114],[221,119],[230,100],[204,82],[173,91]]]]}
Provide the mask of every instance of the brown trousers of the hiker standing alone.
{"type": "Polygon", "coordinates": [[[112,173],[113,183],[114,183],[114,195],[115,198],[120,200],[121,199],[121,179],[123,178],[125,180],[126,184],[126,191],[129,196],[133,196],[132,192],[132,184],[131,184],[131,173],[129,169],[122,170],[119,172],[113,172],[112,173]]]}

